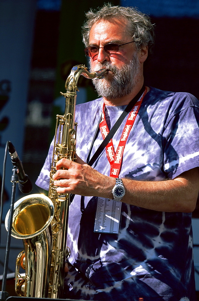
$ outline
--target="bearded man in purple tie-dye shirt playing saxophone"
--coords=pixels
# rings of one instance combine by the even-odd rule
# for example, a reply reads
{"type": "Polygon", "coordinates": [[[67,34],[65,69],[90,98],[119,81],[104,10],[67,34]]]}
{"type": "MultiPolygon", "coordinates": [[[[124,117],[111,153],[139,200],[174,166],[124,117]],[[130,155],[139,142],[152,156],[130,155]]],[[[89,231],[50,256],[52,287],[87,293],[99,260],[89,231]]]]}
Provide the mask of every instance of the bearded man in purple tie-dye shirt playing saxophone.
{"type": "MultiPolygon", "coordinates": [[[[109,73],[93,79],[100,98],[76,106],[76,161],[59,160],[53,176],[58,193],[75,194],[69,208],[66,297],[193,301],[199,103],[188,93],[143,85],[154,29],[136,9],[90,10],[83,40],[90,72],[105,68],[109,73]]],[[[46,190],[52,145],[36,182],[46,190]]]]}

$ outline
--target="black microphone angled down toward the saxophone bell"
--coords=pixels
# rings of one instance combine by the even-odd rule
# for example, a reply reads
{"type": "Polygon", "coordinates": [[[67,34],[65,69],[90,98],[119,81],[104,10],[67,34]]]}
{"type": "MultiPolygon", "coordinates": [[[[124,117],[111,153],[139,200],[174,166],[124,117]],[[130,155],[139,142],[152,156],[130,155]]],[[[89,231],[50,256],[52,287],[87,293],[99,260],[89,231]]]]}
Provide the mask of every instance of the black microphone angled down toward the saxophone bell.
{"type": "Polygon", "coordinates": [[[32,191],[32,183],[28,178],[28,176],[25,174],[22,163],[17,155],[14,145],[10,141],[8,142],[8,151],[13,166],[17,167],[17,174],[19,177],[19,183],[18,183],[19,190],[25,194],[30,193],[32,191]]]}

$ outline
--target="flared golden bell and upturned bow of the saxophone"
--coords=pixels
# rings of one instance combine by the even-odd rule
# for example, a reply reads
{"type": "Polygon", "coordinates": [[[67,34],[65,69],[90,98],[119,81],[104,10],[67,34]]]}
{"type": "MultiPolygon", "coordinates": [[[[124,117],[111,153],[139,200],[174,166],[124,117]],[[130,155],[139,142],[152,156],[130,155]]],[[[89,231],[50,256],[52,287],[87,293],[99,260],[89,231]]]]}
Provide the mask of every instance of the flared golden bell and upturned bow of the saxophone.
{"type": "MultiPolygon", "coordinates": [[[[8,231],[10,210],[5,218],[8,231]]],[[[11,235],[23,239],[24,251],[16,261],[15,290],[18,296],[48,296],[51,254],[49,225],[54,217],[52,201],[42,194],[30,194],[14,204],[11,235]],[[20,269],[25,270],[25,276],[20,269]]]]}

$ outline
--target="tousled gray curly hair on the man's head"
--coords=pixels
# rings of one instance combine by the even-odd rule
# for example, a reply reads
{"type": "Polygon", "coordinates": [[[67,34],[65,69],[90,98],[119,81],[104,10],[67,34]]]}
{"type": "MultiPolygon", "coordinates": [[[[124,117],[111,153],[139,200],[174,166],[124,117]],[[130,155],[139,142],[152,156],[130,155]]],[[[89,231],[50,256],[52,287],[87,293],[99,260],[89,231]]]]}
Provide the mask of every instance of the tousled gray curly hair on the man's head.
{"type": "Polygon", "coordinates": [[[87,20],[82,26],[83,42],[85,46],[89,43],[90,29],[100,19],[123,17],[127,20],[127,32],[136,44],[137,51],[142,46],[148,46],[148,53],[152,53],[155,33],[150,18],[133,7],[104,5],[98,11],[90,9],[86,13],[87,20]]]}

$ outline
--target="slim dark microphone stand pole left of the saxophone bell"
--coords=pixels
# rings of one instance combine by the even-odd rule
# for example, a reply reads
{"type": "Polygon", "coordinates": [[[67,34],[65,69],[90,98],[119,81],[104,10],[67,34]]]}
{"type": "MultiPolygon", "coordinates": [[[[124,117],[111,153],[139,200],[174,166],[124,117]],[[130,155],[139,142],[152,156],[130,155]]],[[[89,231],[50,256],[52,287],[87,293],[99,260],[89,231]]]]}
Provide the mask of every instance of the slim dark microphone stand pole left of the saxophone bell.
{"type": "Polygon", "coordinates": [[[3,272],[3,279],[2,279],[2,290],[0,291],[0,301],[5,301],[9,296],[8,292],[5,291],[5,288],[6,288],[6,280],[8,274],[8,260],[9,260],[9,253],[10,253],[10,244],[11,244],[11,230],[12,230],[16,184],[19,182],[16,166],[13,167],[12,172],[13,172],[11,176],[12,195],[11,195],[11,204],[10,204],[10,215],[8,221],[8,234],[7,234],[7,243],[6,243],[6,251],[5,251],[5,264],[4,264],[4,272],[3,272]]]}

